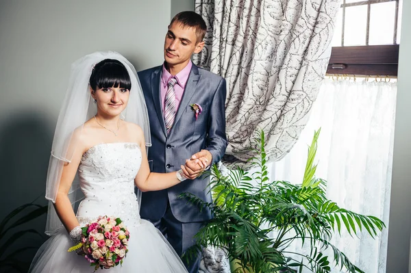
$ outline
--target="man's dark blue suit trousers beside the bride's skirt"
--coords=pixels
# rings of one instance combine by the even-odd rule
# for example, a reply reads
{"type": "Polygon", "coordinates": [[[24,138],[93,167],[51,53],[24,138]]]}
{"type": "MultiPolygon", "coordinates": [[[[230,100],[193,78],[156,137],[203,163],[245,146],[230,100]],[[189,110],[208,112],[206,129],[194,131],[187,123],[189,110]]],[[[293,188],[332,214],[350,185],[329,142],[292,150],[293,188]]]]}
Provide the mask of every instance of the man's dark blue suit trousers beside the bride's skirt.
{"type": "MultiPolygon", "coordinates": [[[[167,201],[166,213],[164,213],[164,216],[160,220],[147,220],[152,222],[154,226],[161,231],[171,246],[173,246],[179,257],[182,257],[182,254],[188,250],[190,246],[195,244],[195,240],[193,238],[204,224],[204,222],[179,222],[171,211],[169,200],[167,201]]],[[[198,273],[201,253],[198,253],[198,255],[195,255],[194,258],[189,261],[187,261],[186,257],[184,257],[182,261],[184,265],[186,265],[188,272],[198,273]]]]}

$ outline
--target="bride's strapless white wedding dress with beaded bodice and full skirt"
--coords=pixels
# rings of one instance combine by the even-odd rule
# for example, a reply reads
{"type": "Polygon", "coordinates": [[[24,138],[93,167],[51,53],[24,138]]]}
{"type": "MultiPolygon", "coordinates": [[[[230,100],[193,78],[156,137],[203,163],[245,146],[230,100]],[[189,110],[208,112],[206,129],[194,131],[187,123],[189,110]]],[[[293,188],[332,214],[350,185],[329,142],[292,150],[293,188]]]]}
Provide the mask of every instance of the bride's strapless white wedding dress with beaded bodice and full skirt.
{"type": "MultiPolygon", "coordinates": [[[[86,196],[77,210],[80,225],[107,215],[121,218],[129,230],[129,252],[123,265],[102,272],[187,272],[160,231],[140,219],[134,194],[134,177],[140,164],[141,151],[135,143],[97,144],[84,153],[78,170],[86,196]]],[[[29,272],[93,272],[83,256],[67,252],[73,245],[67,231],[60,229],[40,247],[29,272]]]]}

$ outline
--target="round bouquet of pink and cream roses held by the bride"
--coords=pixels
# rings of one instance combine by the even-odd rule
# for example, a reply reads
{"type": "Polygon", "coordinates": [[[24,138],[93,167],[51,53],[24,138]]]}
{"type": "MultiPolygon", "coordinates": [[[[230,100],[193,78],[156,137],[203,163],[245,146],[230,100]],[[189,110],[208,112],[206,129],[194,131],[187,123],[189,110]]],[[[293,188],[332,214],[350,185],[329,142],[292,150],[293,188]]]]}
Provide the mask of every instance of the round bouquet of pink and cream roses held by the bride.
{"type": "Polygon", "coordinates": [[[83,255],[95,270],[113,268],[123,264],[129,237],[120,218],[99,216],[96,222],[82,227],[81,241],[69,252],[79,250],[77,254],[83,255]]]}

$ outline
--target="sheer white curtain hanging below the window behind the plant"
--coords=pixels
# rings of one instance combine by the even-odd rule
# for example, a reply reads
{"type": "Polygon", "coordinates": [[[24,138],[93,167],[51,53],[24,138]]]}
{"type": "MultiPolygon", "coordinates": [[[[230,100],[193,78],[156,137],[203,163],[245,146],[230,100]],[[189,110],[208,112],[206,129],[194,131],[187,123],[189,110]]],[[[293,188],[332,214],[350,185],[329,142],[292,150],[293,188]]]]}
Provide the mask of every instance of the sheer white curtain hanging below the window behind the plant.
{"type": "MultiPolygon", "coordinates": [[[[271,164],[271,180],[301,183],[307,145],[321,127],[316,177],[328,181],[328,198],[388,229],[396,95],[397,83],[325,79],[299,140],[271,164]]],[[[385,272],[387,229],[376,239],[337,234],[334,244],[364,272],[385,272]]]]}

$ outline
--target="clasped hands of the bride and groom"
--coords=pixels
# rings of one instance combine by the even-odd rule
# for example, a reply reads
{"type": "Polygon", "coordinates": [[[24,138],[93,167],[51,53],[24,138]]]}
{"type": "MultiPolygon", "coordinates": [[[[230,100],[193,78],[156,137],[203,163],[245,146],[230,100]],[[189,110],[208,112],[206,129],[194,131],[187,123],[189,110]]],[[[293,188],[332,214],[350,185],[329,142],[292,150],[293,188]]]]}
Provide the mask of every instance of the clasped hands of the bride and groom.
{"type": "Polygon", "coordinates": [[[187,179],[195,179],[199,177],[204,170],[211,164],[212,155],[207,150],[201,150],[186,159],[186,165],[182,165],[181,168],[184,172],[184,177],[187,179]]]}

